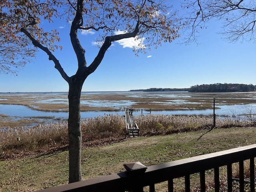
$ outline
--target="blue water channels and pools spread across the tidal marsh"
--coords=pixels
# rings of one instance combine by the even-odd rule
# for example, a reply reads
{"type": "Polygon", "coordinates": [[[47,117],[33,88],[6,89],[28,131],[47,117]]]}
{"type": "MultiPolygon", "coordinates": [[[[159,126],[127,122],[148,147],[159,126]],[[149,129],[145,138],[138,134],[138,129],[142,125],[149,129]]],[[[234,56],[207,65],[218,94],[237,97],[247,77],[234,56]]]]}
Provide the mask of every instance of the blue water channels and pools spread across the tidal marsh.
{"type": "MultiPolygon", "coordinates": [[[[225,105],[216,104],[215,114],[216,116],[232,116],[243,115],[247,109],[251,109],[254,113],[256,112],[256,93],[248,95],[248,93],[218,93],[228,94],[228,96],[240,96],[239,99],[250,99],[250,104],[235,104],[225,105]]],[[[193,102],[186,100],[187,98],[200,98],[202,102],[204,99],[212,98],[212,95],[216,93],[188,93],[188,92],[82,92],[81,96],[89,95],[108,95],[108,94],[124,94],[127,100],[81,100],[81,105],[88,105],[94,107],[112,107],[116,108],[117,111],[88,111],[81,112],[81,118],[92,118],[96,116],[104,116],[105,114],[119,114],[124,115],[124,108],[128,108],[132,104],[136,104],[136,101],[132,101],[132,98],[167,98],[162,102],[152,102],[152,104],[164,104],[164,105],[179,105],[179,104],[200,104],[200,102],[193,102]],[[168,100],[170,98],[170,100],[168,100]]],[[[68,104],[68,93],[67,92],[47,92],[47,93],[8,93],[0,94],[0,100],[6,100],[4,96],[18,95],[26,100],[33,100],[38,103],[52,103],[52,104],[68,104]],[[51,96],[51,98],[49,98],[51,96]],[[2,97],[2,98],[1,98],[2,97]],[[40,99],[38,99],[40,98],[40,99]],[[36,99],[36,100],[34,100],[36,99]]],[[[230,98],[226,98],[230,99],[230,98]]],[[[140,114],[149,114],[149,111],[135,110],[133,115],[138,116],[140,114]]],[[[22,105],[7,105],[0,104],[0,114],[8,116],[18,117],[54,117],[54,118],[68,118],[68,112],[44,112],[38,110],[32,110],[22,105]]],[[[151,111],[151,114],[166,114],[166,115],[212,115],[213,110],[173,110],[173,111],[151,111]]]]}

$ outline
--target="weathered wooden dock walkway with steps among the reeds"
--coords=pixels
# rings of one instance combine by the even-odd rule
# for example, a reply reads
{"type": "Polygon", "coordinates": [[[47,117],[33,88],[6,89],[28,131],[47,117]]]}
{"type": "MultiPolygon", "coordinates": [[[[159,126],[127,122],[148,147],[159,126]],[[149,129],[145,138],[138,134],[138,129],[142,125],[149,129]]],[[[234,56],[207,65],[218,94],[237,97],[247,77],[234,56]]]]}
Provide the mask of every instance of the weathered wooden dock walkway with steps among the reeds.
{"type": "Polygon", "coordinates": [[[128,131],[130,137],[138,137],[139,128],[136,123],[135,123],[135,127],[133,126],[132,112],[133,112],[133,109],[125,109],[126,130],[128,131]]]}

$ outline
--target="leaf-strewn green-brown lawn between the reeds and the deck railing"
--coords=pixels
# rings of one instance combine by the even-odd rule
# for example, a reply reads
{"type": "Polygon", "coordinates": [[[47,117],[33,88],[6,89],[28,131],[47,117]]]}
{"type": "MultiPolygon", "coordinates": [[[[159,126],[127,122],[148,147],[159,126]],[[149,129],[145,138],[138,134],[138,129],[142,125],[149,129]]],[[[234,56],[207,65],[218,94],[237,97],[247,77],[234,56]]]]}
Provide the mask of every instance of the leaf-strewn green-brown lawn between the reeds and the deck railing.
{"type": "MultiPolygon", "coordinates": [[[[140,161],[150,166],[256,143],[256,128],[218,128],[206,132],[199,130],[139,137],[121,143],[84,148],[83,179],[123,172],[123,164],[130,162],[140,161]]],[[[210,175],[210,172],[207,174],[210,175]]],[[[192,178],[198,176],[195,174],[192,178]]],[[[0,161],[1,192],[34,191],[66,184],[67,181],[67,151],[0,161]]],[[[182,178],[175,180],[176,187],[182,186],[181,182],[182,178]]],[[[162,185],[157,187],[164,190],[162,185]]],[[[179,191],[179,188],[176,190],[179,191]]]]}

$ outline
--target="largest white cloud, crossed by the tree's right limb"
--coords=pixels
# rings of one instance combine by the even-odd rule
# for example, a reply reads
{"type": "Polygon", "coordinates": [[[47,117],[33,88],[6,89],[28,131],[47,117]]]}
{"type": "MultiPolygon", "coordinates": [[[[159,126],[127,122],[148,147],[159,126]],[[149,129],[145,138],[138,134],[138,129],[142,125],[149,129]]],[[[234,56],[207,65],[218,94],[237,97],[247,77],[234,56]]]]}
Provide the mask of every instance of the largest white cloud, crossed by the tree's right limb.
{"type": "MultiPolygon", "coordinates": [[[[126,33],[125,31],[116,31],[115,32],[115,35],[118,35],[118,34],[124,34],[126,33]]],[[[136,36],[135,38],[134,37],[130,37],[130,38],[126,38],[126,39],[121,39],[121,40],[118,40],[116,42],[118,42],[118,44],[122,45],[123,48],[144,48],[145,45],[143,44],[143,41],[144,41],[145,38],[139,38],[138,36],[136,36]]]]}

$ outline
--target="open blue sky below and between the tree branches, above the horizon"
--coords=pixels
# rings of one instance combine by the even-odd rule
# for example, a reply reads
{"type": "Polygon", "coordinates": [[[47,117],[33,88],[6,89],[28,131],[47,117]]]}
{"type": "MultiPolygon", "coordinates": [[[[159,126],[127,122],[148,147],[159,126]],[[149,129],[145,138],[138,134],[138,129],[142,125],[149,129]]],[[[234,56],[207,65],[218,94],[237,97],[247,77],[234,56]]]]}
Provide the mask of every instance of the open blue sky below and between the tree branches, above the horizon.
{"type": "MultiPolygon", "coordinates": [[[[63,50],[54,52],[69,76],[76,73],[77,62],[69,30],[64,21],[55,22],[63,50]]],[[[196,84],[240,83],[256,85],[256,44],[229,43],[218,32],[221,21],[211,21],[198,34],[199,44],[179,44],[186,34],[172,43],[147,54],[135,56],[131,42],[115,42],[97,68],[86,79],[82,91],[127,91],[147,88],[189,88],[196,84]]],[[[79,34],[89,65],[98,53],[95,34],[79,34]]],[[[62,79],[48,56],[38,51],[33,63],[18,76],[0,75],[0,92],[67,92],[62,79]]]]}

